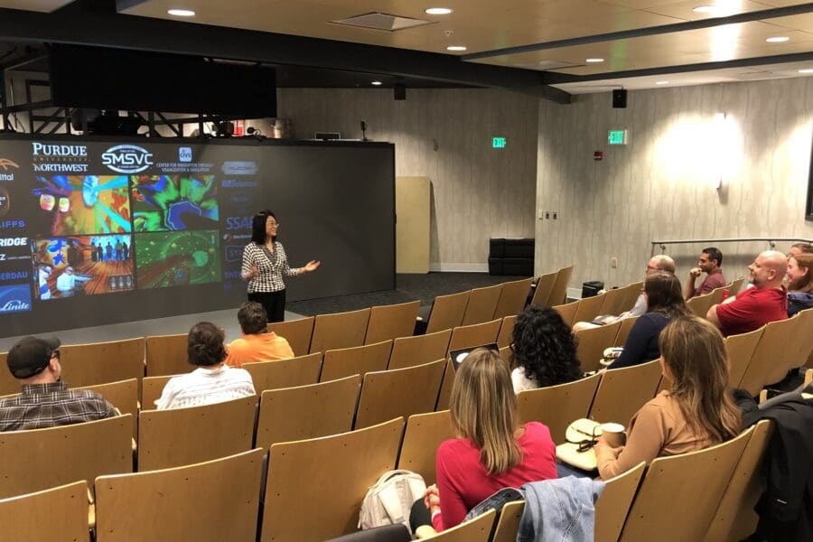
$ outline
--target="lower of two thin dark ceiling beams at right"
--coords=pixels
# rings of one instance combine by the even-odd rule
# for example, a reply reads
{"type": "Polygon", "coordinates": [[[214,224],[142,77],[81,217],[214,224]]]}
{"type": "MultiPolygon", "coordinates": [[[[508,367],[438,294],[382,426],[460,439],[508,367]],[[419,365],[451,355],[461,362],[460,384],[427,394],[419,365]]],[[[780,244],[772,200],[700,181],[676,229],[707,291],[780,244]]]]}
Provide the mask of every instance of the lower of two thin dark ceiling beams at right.
{"type": "Polygon", "coordinates": [[[687,73],[690,71],[725,70],[728,68],[749,68],[751,66],[767,66],[770,64],[787,64],[790,62],[813,61],[813,51],[793,52],[768,57],[753,57],[735,61],[700,62],[697,64],[683,64],[682,66],[663,66],[658,68],[645,68],[642,70],[605,71],[590,75],[571,75],[568,73],[554,73],[547,71],[544,75],[548,85],[564,83],[583,83],[605,79],[627,79],[631,77],[647,77],[652,75],[670,75],[673,73],[687,73]]]}

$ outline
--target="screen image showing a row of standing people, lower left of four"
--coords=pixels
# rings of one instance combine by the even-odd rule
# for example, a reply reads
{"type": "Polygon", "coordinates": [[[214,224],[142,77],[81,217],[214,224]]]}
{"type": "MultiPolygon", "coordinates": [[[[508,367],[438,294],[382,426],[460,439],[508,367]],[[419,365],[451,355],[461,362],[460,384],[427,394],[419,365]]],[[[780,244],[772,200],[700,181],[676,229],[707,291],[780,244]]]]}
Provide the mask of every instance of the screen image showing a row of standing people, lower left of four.
{"type": "Polygon", "coordinates": [[[41,301],[134,290],[133,236],[37,239],[33,267],[35,296],[41,301]]]}

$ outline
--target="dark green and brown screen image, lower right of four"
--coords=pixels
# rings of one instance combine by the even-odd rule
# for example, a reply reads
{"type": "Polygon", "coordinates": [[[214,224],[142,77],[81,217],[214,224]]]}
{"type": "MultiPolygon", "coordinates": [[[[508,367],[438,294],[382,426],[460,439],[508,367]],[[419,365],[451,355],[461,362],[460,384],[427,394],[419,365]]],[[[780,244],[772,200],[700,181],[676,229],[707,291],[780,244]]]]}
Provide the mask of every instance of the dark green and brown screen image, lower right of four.
{"type": "Polygon", "coordinates": [[[139,288],[219,282],[219,232],[209,230],[137,234],[135,262],[139,288]]]}

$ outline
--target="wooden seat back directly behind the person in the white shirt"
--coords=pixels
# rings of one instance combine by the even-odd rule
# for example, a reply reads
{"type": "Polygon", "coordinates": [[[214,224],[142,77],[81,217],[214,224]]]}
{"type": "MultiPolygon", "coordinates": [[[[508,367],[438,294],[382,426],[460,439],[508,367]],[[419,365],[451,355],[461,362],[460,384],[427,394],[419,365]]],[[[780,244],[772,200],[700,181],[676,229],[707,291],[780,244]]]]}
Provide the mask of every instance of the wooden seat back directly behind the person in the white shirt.
{"type": "Polygon", "coordinates": [[[210,461],[251,449],[257,396],[138,415],[138,470],[210,461]]]}

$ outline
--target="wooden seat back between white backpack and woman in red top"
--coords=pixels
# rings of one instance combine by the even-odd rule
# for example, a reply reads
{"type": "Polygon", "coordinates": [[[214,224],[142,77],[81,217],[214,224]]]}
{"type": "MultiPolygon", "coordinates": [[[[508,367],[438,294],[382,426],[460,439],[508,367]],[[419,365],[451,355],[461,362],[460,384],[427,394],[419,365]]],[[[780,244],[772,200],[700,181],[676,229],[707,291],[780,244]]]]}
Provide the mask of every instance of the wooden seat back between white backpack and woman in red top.
{"type": "Polygon", "coordinates": [[[450,438],[454,438],[454,429],[448,410],[409,416],[397,468],[417,472],[426,485],[435,483],[437,448],[450,438]]]}

